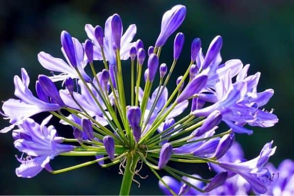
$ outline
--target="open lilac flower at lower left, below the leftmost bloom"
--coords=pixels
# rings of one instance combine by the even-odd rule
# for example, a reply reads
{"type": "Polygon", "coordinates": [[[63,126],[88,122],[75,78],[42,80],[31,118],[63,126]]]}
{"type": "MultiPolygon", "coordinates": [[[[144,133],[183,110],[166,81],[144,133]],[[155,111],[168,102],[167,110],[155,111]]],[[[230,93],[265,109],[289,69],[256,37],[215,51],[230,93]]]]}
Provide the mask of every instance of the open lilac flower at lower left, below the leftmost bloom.
{"type": "Polygon", "coordinates": [[[62,145],[62,138],[57,136],[55,128],[46,124],[51,116],[41,124],[32,119],[26,119],[14,130],[14,146],[21,152],[27,154],[26,159],[18,159],[21,166],[16,169],[19,177],[30,178],[37,175],[44,168],[50,169],[49,161],[60,153],[73,150],[71,145],[62,145]]]}

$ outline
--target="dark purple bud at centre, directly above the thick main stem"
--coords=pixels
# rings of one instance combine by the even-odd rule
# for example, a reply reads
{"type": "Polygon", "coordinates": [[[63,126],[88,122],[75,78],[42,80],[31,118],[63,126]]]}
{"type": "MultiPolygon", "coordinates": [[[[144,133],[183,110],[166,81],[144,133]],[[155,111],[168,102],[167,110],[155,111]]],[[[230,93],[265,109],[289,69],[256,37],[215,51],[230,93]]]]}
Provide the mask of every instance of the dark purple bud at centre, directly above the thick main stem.
{"type": "Polygon", "coordinates": [[[128,122],[130,123],[130,127],[133,129],[133,135],[136,142],[139,142],[141,138],[141,109],[138,106],[131,106],[128,108],[126,112],[126,116],[128,122]]]}

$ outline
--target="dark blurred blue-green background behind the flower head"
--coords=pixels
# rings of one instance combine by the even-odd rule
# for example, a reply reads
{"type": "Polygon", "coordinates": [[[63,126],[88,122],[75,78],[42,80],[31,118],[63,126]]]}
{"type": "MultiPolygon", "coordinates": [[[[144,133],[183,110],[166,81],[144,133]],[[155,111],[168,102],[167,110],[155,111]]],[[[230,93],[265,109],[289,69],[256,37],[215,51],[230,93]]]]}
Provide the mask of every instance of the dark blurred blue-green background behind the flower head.
{"type": "MultiPolygon", "coordinates": [[[[223,61],[238,58],[244,64],[250,63],[250,73],[260,71],[259,91],[275,90],[267,109],[274,108],[279,123],[271,128],[254,127],[252,136],[238,135],[247,158],[256,156],[262,146],[274,140],[278,146],[270,159],[276,166],[285,158],[294,159],[294,132],[292,128],[294,111],[294,1],[293,0],[0,0],[0,100],[14,97],[13,75],[25,67],[31,78],[31,88],[37,75],[49,74],[37,61],[37,53],[46,51],[61,57],[60,32],[68,30],[81,42],[86,39],[85,24],[101,25],[108,16],[119,13],[124,29],[137,25],[135,40],[142,39],[145,48],[153,45],[160,30],[163,13],[175,4],[187,7],[187,16],[178,29],[185,34],[185,46],[174,73],[183,73],[190,62],[191,41],[200,37],[206,51],[216,36],[223,38],[223,61]]],[[[165,45],[161,61],[172,62],[171,36],[165,45]]],[[[98,65],[102,66],[102,64],[98,65]]],[[[125,69],[125,75],[129,70],[125,69]]],[[[171,81],[175,82],[175,74],[171,81]]],[[[173,83],[170,84],[174,86],[173,83]]],[[[36,120],[40,122],[42,116],[36,120]]],[[[1,120],[0,126],[8,122],[1,120]]],[[[68,127],[60,127],[66,129],[68,127]]],[[[60,130],[59,129],[59,130],[60,130]]],[[[13,147],[11,134],[0,135],[0,194],[2,195],[117,195],[122,175],[118,167],[101,169],[92,165],[72,172],[52,175],[41,172],[32,179],[15,175],[19,163],[13,147]]],[[[87,158],[56,157],[51,161],[56,169],[82,163],[87,158]]],[[[177,167],[177,166],[176,166],[177,167]]],[[[196,173],[206,166],[185,165],[186,170],[196,173]]],[[[149,175],[139,179],[141,187],[134,183],[131,194],[159,195],[158,180],[144,168],[141,174],[149,175]]],[[[161,173],[164,174],[164,173],[161,173]]],[[[203,174],[202,175],[208,175],[203,174]]],[[[138,179],[138,178],[137,178],[138,179]]]]}

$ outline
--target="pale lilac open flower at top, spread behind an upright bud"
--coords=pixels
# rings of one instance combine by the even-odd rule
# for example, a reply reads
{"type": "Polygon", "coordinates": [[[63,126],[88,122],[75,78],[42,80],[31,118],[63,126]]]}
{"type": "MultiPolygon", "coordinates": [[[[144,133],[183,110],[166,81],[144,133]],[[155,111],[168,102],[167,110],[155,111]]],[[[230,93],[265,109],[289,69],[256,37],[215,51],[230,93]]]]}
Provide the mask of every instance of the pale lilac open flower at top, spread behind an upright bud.
{"type": "MultiPolygon", "coordinates": [[[[136,25],[129,25],[129,27],[126,29],[123,35],[119,34],[118,30],[120,26],[118,25],[117,20],[114,21],[116,22],[116,24],[114,24],[115,26],[113,26],[115,27],[115,29],[113,29],[112,27],[112,19],[114,16],[115,15],[110,16],[105,22],[105,37],[103,39],[103,50],[105,53],[106,60],[109,62],[110,66],[116,65],[116,53],[113,50],[113,43],[116,42],[116,45],[120,45],[120,47],[116,46],[116,48],[120,49],[121,60],[127,60],[130,56],[130,49],[135,46],[135,42],[131,41],[137,32],[136,25]],[[114,34],[116,38],[113,37],[114,34]],[[120,43],[118,43],[119,36],[121,36],[120,43]]],[[[123,32],[123,26],[121,27],[121,32],[123,32]]],[[[98,39],[95,36],[95,28],[92,25],[87,24],[85,25],[85,31],[89,39],[91,39],[94,44],[94,60],[103,60],[100,45],[98,43],[98,39]]]]}

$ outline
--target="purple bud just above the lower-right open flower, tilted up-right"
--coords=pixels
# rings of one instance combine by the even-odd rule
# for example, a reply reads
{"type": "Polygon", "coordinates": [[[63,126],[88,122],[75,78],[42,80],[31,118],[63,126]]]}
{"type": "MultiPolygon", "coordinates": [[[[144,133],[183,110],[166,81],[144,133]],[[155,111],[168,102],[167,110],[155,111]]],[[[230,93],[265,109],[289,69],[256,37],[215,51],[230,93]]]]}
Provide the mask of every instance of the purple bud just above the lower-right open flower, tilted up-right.
{"type": "Polygon", "coordinates": [[[235,141],[235,134],[231,133],[221,138],[213,157],[220,159],[230,149],[235,141]]]}

